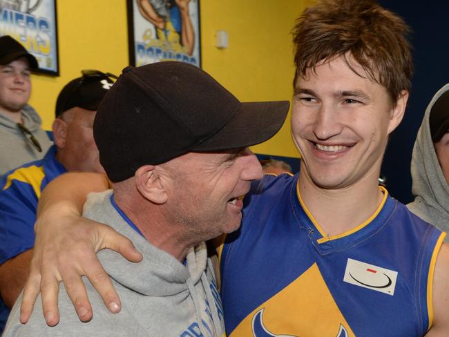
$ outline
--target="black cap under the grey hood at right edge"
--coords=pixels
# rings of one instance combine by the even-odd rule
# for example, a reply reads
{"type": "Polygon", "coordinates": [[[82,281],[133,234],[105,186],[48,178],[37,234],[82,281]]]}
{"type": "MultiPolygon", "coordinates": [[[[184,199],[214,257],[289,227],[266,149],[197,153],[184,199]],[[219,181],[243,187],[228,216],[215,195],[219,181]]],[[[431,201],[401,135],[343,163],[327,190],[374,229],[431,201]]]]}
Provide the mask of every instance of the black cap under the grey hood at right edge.
{"type": "Polygon", "coordinates": [[[437,143],[449,130],[449,90],[438,97],[432,106],[429,117],[432,142],[437,143]]]}

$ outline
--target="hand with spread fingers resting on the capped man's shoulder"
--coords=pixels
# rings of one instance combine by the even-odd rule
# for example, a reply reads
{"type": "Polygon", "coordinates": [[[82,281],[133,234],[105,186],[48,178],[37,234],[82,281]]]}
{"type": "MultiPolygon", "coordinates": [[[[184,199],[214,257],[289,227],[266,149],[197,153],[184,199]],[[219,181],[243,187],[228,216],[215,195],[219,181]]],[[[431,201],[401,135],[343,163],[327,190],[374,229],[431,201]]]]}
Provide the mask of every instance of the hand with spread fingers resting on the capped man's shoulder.
{"type": "Polygon", "coordinates": [[[83,275],[88,277],[111,312],[117,313],[121,309],[120,298],[108,274],[97,260],[96,252],[110,248],[131,262],[142,260],[142,254],[135,249],[131,240],[111,227],[87,219],[80,220],[79,217],[70,219],[64,222],[65,226],[37,235],[35,257],[31,263],[30,277],[21,305],[20,320],[23,323],[32,314],[32,307],[41,291],[45,320],[50,326],[57,325],[61,280],[64,280],[79,319],[83,322],[92,319],[93,309],[82,280],[83,275]]]}

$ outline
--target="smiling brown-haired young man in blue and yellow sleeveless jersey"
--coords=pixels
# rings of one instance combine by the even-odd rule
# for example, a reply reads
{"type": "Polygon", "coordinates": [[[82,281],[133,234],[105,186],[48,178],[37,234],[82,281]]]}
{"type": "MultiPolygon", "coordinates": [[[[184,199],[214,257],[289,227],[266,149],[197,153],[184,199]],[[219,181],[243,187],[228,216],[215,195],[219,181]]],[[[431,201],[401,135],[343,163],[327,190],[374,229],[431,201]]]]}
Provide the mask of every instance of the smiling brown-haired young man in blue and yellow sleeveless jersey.
{"type": "MultiPolygon", "coordinates": [[[[254,183],[242,226],[220,249],[228,336],[448,336],[446,234],[378,186],[385,146],[410,90],[407,32],[374,1],[321,1],[298,19],[292,135],[300,173],[254,183]]],[[[47,253],[55,242],[50,228],[58,227],[40,229],[47,253]]],[[[107,238],[102,247],[130,251],[111,232],[98,231],[107,238]]],[[[57,241],[68,242],[68,234],[60,236],[57,241]]],[[[70,242],[64,255],[97,245],[94,236],[70,242]]],[[[77,273],[90,274],[105,302],[118,303],[106,281],[95,281],[94,262],[55,269],[42,257],[42,270],[50,269],[42,276],[48,317],[56,317],[60,274],[72,284],[77,273]]],[[[34,289],[23,318],[35,280],[39,273],[30,278],[34,289]]],[[[73,288],[75,307],[88,312],[86,319],[86,296],[73,288]]]]}

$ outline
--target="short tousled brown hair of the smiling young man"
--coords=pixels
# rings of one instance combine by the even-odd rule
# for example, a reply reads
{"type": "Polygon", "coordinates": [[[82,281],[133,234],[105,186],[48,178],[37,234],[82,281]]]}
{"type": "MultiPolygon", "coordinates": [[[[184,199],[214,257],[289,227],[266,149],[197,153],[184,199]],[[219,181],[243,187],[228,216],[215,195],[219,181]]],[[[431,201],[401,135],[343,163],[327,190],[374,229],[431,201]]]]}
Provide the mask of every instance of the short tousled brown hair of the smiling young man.
{"type": "Polygon", "coordinates": [[[410,90],[413,73],[410,28],[393,12],[370,0],[323,0],[296,21],[294,35],[297,77],[305,77],[321,61],[347,54],[368,77],[387,88],[392,102],[410,90]]]}

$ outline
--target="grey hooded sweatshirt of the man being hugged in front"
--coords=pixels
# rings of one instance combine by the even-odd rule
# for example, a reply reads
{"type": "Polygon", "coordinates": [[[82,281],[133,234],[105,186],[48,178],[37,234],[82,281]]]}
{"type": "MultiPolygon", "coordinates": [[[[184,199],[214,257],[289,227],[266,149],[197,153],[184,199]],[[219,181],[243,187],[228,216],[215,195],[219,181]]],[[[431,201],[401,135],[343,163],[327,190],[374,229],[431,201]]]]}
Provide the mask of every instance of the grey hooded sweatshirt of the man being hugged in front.
{"type": "Polygon", "coordinates": [[[130,238],[144,256],[141,262],[133,263],[110,249],[98,253],[104,269],[113,279],[122,311],[111,314],[97,291],[84,279],[93,319],[81,322],[61,284],[58,325],[46,325],[40,296],[30,320],[22,325],[19,322],[20,296],[12,308],[4,337],[222,336],[222,305],[204,242],[189,251],[185,265],[180,263],[126,223],[126,215],[121,215],[111,204],[111,193],[90,194],[84,205],[84,215],[109,224],[130,238]]]}

